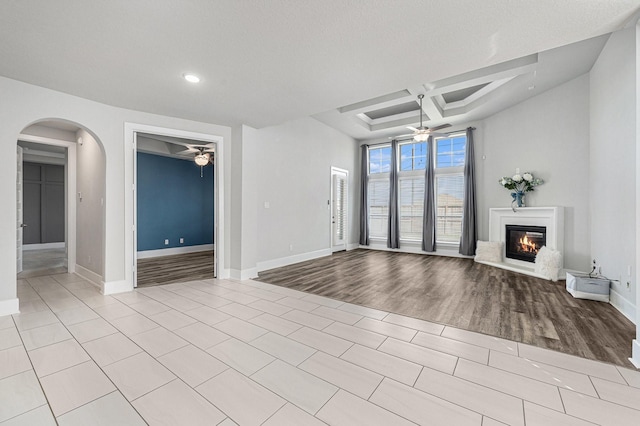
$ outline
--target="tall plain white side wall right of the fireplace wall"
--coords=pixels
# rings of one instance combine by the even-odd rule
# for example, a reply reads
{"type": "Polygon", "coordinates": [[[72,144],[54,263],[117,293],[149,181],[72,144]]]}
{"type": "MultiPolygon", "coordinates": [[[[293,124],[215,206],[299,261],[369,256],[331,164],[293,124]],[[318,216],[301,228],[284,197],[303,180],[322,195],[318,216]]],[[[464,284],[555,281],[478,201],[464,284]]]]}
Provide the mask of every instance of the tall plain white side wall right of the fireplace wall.
{"type": "Polygon", "coordinates": [[[611,35],[590,73],[591,255],[621,281],[611,284],[612,303],[627,314],[637,291],[636,72],[633,27],[611,35]]]}

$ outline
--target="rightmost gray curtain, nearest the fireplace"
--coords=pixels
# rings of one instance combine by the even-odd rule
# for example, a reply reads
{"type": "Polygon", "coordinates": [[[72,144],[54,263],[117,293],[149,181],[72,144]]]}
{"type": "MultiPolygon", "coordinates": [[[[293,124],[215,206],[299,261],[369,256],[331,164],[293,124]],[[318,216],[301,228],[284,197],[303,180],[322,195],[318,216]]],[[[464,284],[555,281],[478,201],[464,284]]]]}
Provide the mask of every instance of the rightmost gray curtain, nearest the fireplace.
{"type": "Polygon", "coordinates": [[[472,127],[467,128],[467,147],[464,157],[464,201],[459,252],[466,256],[473,256],[476,254],[478,228],[476,226],[476,178],[472,127]]]}

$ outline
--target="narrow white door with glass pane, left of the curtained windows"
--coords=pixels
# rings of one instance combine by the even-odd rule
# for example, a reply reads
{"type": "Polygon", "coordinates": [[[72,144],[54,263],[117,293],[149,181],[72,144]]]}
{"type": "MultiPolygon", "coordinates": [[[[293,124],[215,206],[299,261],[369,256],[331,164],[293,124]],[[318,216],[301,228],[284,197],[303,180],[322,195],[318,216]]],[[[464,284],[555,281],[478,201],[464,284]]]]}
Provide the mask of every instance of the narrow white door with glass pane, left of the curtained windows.
{"type": "Polygon", "coordinates": [[[347,249],[349,172],[331,168],[331,251],[347,249]]]}

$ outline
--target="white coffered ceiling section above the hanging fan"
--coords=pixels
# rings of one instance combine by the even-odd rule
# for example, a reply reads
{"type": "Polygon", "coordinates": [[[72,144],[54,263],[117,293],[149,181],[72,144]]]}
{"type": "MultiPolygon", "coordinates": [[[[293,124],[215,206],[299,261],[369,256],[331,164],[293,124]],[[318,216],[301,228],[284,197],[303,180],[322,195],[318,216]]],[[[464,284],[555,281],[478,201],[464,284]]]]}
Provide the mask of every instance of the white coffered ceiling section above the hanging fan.
{"type": "Polygon", "coordinates": [[[420,120],[419,94],[427,127],[467,125],[588,72],[608,36],[524,56],[442,80],[314,115],[360,140],[411,133],[420,120]]]}

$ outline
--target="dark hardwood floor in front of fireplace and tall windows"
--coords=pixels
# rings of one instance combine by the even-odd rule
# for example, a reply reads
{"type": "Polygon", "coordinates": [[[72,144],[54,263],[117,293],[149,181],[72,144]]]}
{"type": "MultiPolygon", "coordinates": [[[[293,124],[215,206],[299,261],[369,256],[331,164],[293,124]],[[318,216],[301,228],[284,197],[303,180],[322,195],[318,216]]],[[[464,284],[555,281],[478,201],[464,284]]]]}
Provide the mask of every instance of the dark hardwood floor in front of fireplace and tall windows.
{"type": "Polygon", "coordinates": [[[259,281],[633,368],[635,325],[608,303],[471,259],[352,250],[259,281]]]}

